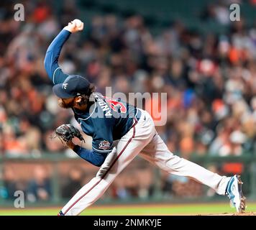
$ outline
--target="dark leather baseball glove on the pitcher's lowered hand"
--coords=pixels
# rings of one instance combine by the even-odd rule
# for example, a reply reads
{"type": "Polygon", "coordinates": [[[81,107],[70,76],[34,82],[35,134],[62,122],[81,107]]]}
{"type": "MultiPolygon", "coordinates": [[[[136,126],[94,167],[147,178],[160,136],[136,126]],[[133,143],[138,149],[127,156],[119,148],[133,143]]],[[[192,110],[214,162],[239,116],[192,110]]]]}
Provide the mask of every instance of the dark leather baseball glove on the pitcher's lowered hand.
{"type": "Polygon", "coordinates": [[[72,140],[74,137],[77,137],[81,141],[85,142],[79,130],[76,129],[72,124],[62,124],[61,126],[58,126],[58,128],[55,130],[55,134],[56,137],[58,137],[65,145],[67,145],[68,142],[70,142],[70,140],[72,140]]]}

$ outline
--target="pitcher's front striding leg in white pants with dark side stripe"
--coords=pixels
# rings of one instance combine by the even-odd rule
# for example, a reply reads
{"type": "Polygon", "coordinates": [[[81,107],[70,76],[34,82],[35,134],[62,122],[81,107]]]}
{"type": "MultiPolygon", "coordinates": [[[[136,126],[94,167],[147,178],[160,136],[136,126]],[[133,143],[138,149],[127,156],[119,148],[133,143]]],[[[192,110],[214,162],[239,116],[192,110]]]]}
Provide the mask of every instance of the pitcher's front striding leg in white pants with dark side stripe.
{"type": "Polygon", "coordinates": [[[153,136],[152,126],[139,121],[136,126],[119,140],[113,151],[106,157],[96,178],[83,186],[76,195],[63,207],[64,215],[78,215],[85,208],[97,201],[104,194],[117,175],[136,157],[150,142],[153,136]]]}

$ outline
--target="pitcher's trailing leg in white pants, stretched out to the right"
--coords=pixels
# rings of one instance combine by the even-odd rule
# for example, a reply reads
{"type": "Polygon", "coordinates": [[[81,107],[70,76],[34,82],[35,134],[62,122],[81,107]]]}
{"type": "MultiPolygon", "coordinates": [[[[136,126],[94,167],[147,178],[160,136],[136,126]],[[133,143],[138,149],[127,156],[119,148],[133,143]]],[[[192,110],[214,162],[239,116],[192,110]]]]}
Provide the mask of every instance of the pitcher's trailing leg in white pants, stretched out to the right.
{"type": "Polygon", "coordinates": [[[141,156],[167,172],[192,178],[213,188],[219,195],[225,194],[230,178],[218,175],[200,165],[173,155],[158,134],[142,150],[141,156]]]}

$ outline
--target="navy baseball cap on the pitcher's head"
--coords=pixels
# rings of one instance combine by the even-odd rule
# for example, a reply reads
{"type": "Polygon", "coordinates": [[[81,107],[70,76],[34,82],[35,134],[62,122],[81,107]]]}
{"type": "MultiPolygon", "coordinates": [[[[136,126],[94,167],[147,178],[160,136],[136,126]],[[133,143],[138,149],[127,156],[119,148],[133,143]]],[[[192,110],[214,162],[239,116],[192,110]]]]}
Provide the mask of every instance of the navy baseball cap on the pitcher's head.
{"type": "Polygon", "coordinates": [[[52,87],[53,93],[59,98],[73,98],[81,94],[87,94],[90,83],[79,75],[69,75],[63,83],[52,87]]]}

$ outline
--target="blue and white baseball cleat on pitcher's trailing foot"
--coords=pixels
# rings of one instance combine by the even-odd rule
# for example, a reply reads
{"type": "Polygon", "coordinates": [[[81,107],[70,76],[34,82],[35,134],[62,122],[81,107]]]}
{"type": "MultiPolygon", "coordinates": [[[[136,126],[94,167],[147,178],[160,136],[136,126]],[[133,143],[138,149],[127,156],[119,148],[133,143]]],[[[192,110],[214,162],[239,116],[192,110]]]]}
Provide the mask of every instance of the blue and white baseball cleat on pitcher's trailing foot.
{"type": "Polygon", "coordinates": [[[234,206],[237,209],[237,213],[244,212],[246,198],[242,194],[242,180],[239,175],[234,175],[227,183],[226,194],[234,206]]]}

